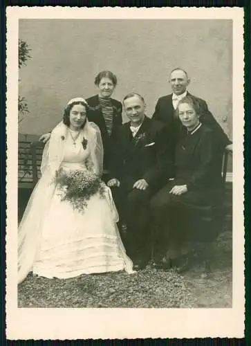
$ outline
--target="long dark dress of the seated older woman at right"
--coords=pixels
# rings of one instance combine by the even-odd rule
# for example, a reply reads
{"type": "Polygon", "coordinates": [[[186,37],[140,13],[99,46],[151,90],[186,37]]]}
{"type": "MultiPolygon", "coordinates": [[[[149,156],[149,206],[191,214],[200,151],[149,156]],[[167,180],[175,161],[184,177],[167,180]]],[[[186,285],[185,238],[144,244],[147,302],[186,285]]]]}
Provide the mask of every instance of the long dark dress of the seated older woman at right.
{"type": "Polygon", "coordinates": [[[191,133],[185,127],[180,130],[175,179],[151,200],[160,242],[215,239],[219,228],[212,227],[212,221],[217,219],[223,201],[221,162],[219,142],[212,129],[201,124],[191,133]],[[187,185],[187,192],[170,194],[174,185],[187,185]]]}

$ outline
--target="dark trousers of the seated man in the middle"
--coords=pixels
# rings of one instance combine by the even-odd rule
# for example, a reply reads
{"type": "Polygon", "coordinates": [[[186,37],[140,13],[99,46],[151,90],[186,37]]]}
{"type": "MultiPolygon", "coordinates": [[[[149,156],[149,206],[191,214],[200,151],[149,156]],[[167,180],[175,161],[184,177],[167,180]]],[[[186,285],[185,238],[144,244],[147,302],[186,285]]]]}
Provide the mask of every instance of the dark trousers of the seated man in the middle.
{"type": "Polygon", "coordinates": [[[125,247],[131,257],[149,257],[149,201],[152,192],[147,190],[128,190],[111,188],[120,220],[127,224],[125,247]]]}

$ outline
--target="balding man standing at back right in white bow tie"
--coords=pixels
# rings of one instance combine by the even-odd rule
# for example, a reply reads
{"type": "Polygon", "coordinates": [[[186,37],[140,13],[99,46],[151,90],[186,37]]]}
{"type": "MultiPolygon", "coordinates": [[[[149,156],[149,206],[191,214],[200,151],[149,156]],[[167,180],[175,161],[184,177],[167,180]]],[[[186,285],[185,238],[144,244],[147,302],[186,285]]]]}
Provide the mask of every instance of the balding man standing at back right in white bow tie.
{"type": "Polygon", "coordinates": [[[180,120],[178,116],[176,116],[175,110],[178,102],[186,95],[189,95],[190,97],[194,98],[196,102],[198,102],[201,109],[200,121],[214,131],[216,137],[219,140],[220,147],[222,149],[229,149],[230,152],[232,152],[231,141],[229,140],[229,138],[227,138],[227,135],[225,134],[219,123],[216,121],[212,113],[208,110],[205,100],[197,98],[187,91],[189,82],[190,80],[185,70],[179,68],[172,70],[169,75],[169,83],[171,84],[173,93],[171,93],[170,95],[162,96],[158,99],[153,116],[153,119],[164,122],[167,125],[167,128],[169,129],[169,136],[171,136],[172,138],[173,152],[174,146],[176,145],[178,140],[178,133],[181,126],[180,120]]]}

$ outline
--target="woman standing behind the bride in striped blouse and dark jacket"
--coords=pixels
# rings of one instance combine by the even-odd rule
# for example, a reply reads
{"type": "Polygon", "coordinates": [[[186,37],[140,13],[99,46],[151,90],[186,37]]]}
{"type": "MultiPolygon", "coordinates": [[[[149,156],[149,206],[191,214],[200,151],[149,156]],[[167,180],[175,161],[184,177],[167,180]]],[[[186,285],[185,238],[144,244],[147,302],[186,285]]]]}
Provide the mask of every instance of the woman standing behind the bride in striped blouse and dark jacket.
{"type": "MultiPolygon", "coordinates": [[[[112,141],[118,133],[118,127],[122,125],[122,103],[111,98],[117,77],[111,71],[101,71],[95,77],[97,95],[87,98],[89,104],[87,117],[89,121],[95,122],[100,128],[102,142],[104,146],[104,181],[109,180],[109,170],[111,167],[112,141]]],[[[50,134],[43,134],[39,140],[44,143],[50,138],[50,134]]]]}

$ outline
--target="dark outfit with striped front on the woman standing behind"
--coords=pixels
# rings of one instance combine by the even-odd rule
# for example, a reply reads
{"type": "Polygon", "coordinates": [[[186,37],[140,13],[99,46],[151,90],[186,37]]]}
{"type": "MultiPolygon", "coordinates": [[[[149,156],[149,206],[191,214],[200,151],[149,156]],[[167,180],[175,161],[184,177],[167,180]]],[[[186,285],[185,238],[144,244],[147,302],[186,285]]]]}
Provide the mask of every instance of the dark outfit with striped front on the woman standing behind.
{"type": "Polygon", "coordinates": [[[102,99],[99,95],[87,98],[86,102],[90,107],[89,121],[95,122],[100,128],[104,146],[104,170],[106,171],[104,180],[107,181],[111,167],[111,143],[115,140],[118,128],[122,125],[122,103],[113,98],[102,99]]]}

